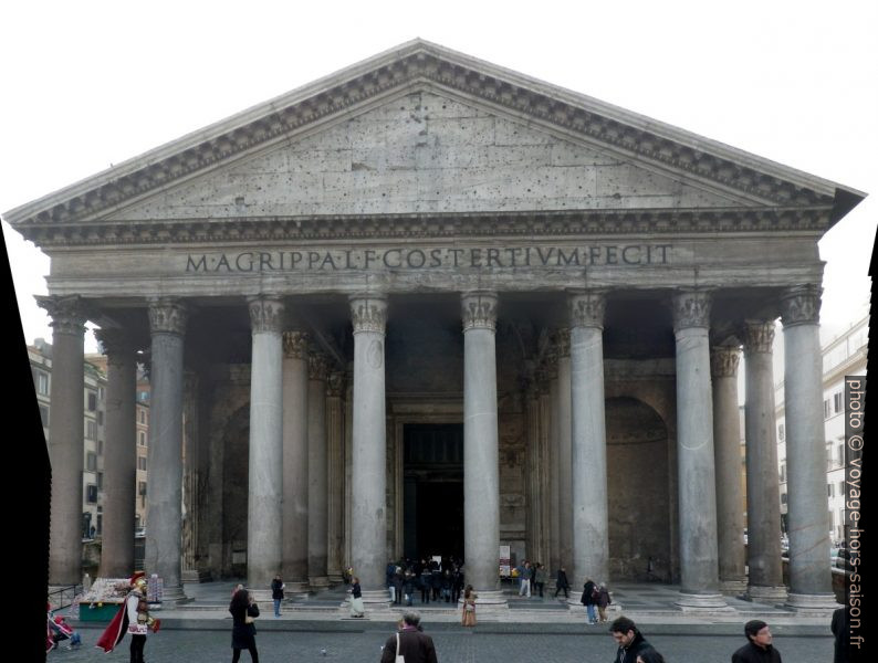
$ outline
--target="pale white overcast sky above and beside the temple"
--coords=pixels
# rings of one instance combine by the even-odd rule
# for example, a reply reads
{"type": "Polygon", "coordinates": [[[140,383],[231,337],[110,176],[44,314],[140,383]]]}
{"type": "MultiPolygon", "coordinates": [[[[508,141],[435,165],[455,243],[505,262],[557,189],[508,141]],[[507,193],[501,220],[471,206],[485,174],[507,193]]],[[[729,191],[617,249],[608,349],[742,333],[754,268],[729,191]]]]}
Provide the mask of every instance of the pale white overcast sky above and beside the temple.
{"type": "MultiPolygon", "coordinates": [[[[416,36],[872,196],[820,242],[823,325],[868,302],[878,2],[0,3],[0,211],[416,36]]],[[[28,341],[49,260],[3,223],[28,341]]],[[[94,349],[91,337],[86,349],[94,349]]]]}

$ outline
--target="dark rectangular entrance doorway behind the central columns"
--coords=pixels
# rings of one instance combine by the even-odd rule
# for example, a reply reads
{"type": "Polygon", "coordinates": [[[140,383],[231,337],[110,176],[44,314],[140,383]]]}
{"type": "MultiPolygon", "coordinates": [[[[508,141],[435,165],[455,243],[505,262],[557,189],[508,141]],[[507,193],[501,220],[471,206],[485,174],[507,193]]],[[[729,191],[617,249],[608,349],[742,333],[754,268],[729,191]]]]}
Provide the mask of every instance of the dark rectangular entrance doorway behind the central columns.
{"type": "Polygon", "coordinates": [[[404,555],[463,557],[463,424],[403,428],[404,555]]]}

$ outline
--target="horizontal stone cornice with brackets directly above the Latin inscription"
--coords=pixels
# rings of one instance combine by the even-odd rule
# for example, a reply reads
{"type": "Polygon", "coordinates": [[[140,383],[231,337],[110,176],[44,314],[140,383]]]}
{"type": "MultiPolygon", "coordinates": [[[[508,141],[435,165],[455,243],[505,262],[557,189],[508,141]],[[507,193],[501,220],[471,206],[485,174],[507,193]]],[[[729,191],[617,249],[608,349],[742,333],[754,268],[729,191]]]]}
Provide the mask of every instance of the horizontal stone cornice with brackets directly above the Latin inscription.
{"type": "Polygon", "coordinates": [[[416,213],[36,223],[17,230],[36,245],[124,246],[223,242],[715,233],[807,233],[829,225],[829,208],[655,209],[504,213],[416,213]]]}

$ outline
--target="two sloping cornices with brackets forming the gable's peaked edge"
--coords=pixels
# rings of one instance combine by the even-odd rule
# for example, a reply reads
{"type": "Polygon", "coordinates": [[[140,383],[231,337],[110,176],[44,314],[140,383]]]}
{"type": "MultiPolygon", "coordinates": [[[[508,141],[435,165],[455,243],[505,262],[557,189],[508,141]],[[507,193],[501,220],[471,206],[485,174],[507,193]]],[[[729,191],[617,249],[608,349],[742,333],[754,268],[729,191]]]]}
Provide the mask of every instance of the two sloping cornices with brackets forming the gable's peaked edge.
{"type": "Polygon", "coordinates": [[[95,219],[171,182],[419,83],[454,91],[755,200],[832,207],[837,190],[863,197],[834,182],[418,40],[10,210],[6,219],[17,228],[95,219]]]}

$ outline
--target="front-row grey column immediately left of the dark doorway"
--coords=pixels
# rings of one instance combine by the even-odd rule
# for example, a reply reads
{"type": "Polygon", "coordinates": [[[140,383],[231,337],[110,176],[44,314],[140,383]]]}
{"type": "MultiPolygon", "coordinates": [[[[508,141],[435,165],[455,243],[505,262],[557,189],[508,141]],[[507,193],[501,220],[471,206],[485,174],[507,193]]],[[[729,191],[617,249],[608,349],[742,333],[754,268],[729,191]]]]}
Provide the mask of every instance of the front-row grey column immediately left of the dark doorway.
{"type": "Polygon", "coordinates": [[[384,334],[387,302],[351,299],[354,323],[352,555],[364,590],[384,588],[387,565],[384,334]]]}

